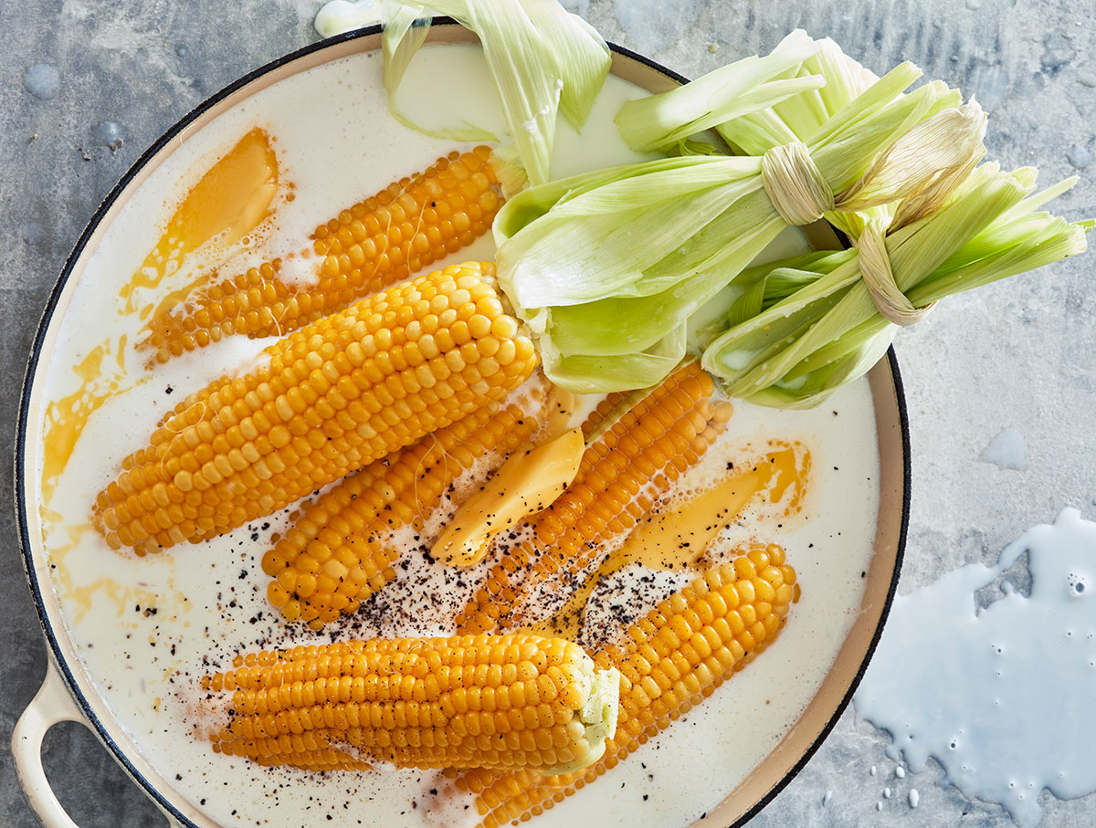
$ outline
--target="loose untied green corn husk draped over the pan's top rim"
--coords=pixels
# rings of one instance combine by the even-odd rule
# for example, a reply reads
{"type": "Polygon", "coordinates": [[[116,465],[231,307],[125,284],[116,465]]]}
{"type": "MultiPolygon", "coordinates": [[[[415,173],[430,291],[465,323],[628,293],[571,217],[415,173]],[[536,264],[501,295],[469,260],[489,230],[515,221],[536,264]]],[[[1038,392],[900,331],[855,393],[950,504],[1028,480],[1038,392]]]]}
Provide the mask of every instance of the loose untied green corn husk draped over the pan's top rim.
{"type": "Polygon", "coordinates": [[[533,184],[548,181],[557,113],[562,112],[576,129],[585,123],[609,71],[605,41],[556,0],[385,0],[389,110],[404,126],[435,137],[494,140],[490,133],[467,124],[427,129],[396,105],[400,81],[429,31],[427,7],[479,35],[517,158],[533,184]]]}

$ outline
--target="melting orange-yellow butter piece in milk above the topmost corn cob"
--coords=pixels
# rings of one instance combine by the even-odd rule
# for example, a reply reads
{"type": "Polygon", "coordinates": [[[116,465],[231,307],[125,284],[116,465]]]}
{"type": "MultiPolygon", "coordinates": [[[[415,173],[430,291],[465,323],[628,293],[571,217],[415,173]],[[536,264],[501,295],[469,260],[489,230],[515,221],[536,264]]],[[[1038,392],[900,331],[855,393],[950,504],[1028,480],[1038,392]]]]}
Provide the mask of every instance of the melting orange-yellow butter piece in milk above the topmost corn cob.
{"type": "MultiPolygon", "coordinates": [[[[206,242],[216,238],[235,244],[252,232],[270,215],[277,182],[277,157],[270,136],[256,127],[210,166],[180,203],[156,246],[118,291],[125,300],[123,314],[137,310],[139,289],[158,287],[184,256],[206,242]]],[[[167,300],[178,298],[173,295],[167,300]]],[[[150,304],[141,308],[141,318],[151,310],[150,304]]]]}

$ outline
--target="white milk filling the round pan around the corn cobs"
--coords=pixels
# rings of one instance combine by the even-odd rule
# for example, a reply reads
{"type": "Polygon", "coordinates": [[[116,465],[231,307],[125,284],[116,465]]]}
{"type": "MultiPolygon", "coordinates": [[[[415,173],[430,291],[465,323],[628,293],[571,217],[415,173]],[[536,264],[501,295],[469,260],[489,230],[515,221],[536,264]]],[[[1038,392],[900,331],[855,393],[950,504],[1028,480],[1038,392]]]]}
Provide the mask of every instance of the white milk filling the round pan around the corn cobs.
{"type": "MultiPolygon", "coordinates": [[[[637,160],[616,136],[613,116],[624,100],[640,94],[610,77],[582,135],[561,122],[553,173],[637,160]]],[[[504,131],[476,47],[424,48],[409,70],[401,99],[409,116],[422,122],[459,116],[504,131]]],[[[251,364],[266,344],[226,337],[151,367],[147,353],[136,350],[144,320],[164,296],[209,267],[239,273],[299,252],[327,217],[439,156],[467,148],[411,131],[388,115],[379,53],[289,77],[186,133],[186,140],[150,172],[105,229],[64,318],[55,320],[57,341],[44,396],[56,405],[38,424],[38,439],[45,442],[50,428],[64,439],[31,452],[44,478],[39,506],[44,543],[56,567],[52,585],[95,691],[179,795],[221,825],[297,826],[329,816],[338,824],[363,825],[471,825],[476,819],[467,802],[431,794],[445,790],[435,773],[380,769],[313,777],[269,770],[214,755],[195,737],[195,722],[206,723],[197,677],[225,669],[241,649],[329,641],[331,633],[286,628],[265,599],[260,560],[271,537],[285,529],[292,509],[212,541],[146,557],[113,552],[91,530],[91,504],[122,458],[145,442],[181,396],[251,364]],[[277,174],[269,204],[252,205],[251,227],[235,241],[221,237],[194,250],[181,251],[176,239],[155,261],[146,261],[170,232],[184,196],[256,129],[269,138],[277,174]]],[[[775,244],[772,255],[797,251],[803,242],[792,231],[775,244]]],[[[490,257],[492,250],[484,238],[449,261],[490,257]]],[[[749,669],[601,783],[537,817],[538,825],[692,823],[749,774],[811,701],[858,612],[875,539],[879,458],[867,381],[841,389],[813,411],[735,402],[706,461],[678,482],[683,498],[723,480],[729,459],[756,458],[774,445],[809,452],[811,472],[800,502],[787,514],[747,503],[716,538],[713,554],[746,541],[785,547],[802,589],[787,626],[749,669]]],[[[399,602],[400,589],[407,590],[401,580],[452,591],[458,606],[459,590],[467,588],[459,576],[468,579],[475,570],[458,573],[431,564],[410,534],[402,540],[410,548],[409,571],[375,596],[380,608],[399,602]]],[[[491,560],[489,555],[482,565],[491,560]]],[[[631,555],[605,573],[590,598],[591,623],[603,622],[598,608],[612,607],[621,596],[654,603],[693,577],[687,568],[649,570],[644,563],[651,562],[631,555]]],[[[393,611],[387,618],[379,632],[435,634],[446,629],[446,618],[436,612],[393,611]]]]}

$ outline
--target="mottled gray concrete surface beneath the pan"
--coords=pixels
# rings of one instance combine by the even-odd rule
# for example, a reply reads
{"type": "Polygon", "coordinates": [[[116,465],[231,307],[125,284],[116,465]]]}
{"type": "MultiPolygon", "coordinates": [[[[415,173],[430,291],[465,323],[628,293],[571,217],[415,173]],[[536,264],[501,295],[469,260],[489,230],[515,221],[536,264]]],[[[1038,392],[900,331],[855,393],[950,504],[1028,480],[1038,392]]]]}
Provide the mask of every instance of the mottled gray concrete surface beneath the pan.
{"type": "MultiPolygon", "coordinates": [[[[4,445],[14,439],[34,325],[95,206],[140,152],[205,95],[315,41],[311,19],[319,5],[315,0],[0,2],[4,445]],[[28,73],[38,65],[56,72],[28,73]],[[107,146],[116,138],[121,146],[107,146]]],[[[690,76],[767,50],[796,26],[832,36],[877,71],[913,60],[929,77],[977,95],[991,114],[992,156],[1005,164],[1036,163],[1047,181],[1078,173],[1083,181],[1060,208],[1071,218],[1096,215],[1096,165],[1089,163],[1096,151],[1093,0],[592,0],[581,11],[606,38],[690,76]]],[[[902,591],[963,563],[994,561],[1007,541],[1051,520],[1063,506],[1096,514],[1094,267],[1089,254],[960,297],[900,335],[914,465],[902,591]],[[979,459],[1005,428],[1026,442],[1023,470],[979,459]]],[[[12,501],[10,464],[0,471],[0,499],[12,501]]],[[[7,745],[42,680],[46,653],[9,506],[0,509],[0,825],[28,828],[35,819],[7,745]]],[[[938,768],[894,779],[886,744],[882,734],[846,712],[753,825],[1011,825],[998,806],[964,800],[938,768]],[[893,790],[891,798],[883,800],[884,785],[893,790]],[[906,800],[911,787],[921,794],[915,809],[906,800]]],[[[164,824],[83,728],[55,728],[45,763],[81,826],[164,824]]],[[[1096,796],[1043,798],[1046,826],[1096,824],[1096,796]]]]}

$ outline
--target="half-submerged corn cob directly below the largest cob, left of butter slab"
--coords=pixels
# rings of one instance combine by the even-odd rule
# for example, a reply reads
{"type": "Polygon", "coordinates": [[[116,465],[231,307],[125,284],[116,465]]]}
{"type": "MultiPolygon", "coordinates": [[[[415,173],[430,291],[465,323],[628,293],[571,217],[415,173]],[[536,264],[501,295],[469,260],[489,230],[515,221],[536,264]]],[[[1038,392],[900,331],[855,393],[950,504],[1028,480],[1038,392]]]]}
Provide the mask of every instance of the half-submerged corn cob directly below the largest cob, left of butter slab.
{"type": "Polygon", "coordinates": [[[263,556],[273,578],[270,602],[287,621],[315,630],[396,577],[400,550],[385,543],[387,532],[407,526],[437,505],[457,476],[487,451],[502,456],[529,439],[538,426],[533,395],[529,411],[496,402],[343,479],[307,506],[274,549],[263,556]]]}

